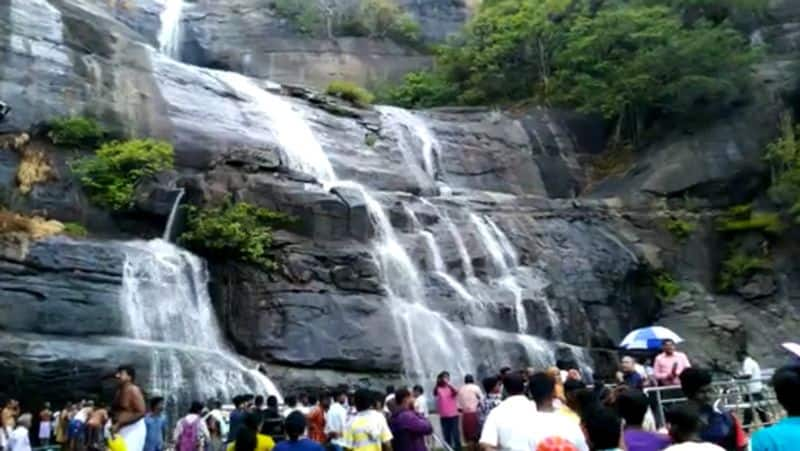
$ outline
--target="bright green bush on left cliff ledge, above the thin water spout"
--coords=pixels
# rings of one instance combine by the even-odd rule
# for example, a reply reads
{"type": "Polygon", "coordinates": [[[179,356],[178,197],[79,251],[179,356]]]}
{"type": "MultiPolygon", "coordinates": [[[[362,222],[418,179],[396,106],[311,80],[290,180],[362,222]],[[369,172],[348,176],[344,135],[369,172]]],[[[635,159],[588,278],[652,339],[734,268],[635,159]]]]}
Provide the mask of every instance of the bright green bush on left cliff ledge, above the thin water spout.
{"type": "Polygon", "coordinates": [[[172,164],[172,145],[135,139],[106,143],[93,157],[74,161],[72,169],[92,202],[112,210],[125,210],[133,204],[136,184],[143,177],[169,169],[172,164]]]}

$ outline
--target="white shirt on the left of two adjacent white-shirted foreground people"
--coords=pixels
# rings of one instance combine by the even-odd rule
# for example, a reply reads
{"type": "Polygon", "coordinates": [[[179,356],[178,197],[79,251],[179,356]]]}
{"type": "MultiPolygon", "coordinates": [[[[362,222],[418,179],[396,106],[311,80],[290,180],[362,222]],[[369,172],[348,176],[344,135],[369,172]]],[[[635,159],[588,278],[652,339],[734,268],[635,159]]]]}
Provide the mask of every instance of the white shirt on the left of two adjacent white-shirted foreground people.
{"type": "Polygon", "coordinates": [[[536,403],[523,395],[511,396],[489,412],[480,443],[502,451],[530,451],[533,440],[531,420],[536,403]]]}

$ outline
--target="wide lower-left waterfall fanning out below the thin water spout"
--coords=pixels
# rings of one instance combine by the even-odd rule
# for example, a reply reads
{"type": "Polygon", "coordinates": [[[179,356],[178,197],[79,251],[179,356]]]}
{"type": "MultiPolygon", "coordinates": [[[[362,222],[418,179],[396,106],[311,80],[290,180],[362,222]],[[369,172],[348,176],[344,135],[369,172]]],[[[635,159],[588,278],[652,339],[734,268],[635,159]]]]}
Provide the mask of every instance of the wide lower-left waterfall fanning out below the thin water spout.
{"type": "Polygon", "coordinates": [[[193,398],[280,396],[226,346],[203,260],[163,240],[125,242],[122,250],[120,307],[128,336],[152,348],[151,390],[167,397],[172,409],[193,398]]]}

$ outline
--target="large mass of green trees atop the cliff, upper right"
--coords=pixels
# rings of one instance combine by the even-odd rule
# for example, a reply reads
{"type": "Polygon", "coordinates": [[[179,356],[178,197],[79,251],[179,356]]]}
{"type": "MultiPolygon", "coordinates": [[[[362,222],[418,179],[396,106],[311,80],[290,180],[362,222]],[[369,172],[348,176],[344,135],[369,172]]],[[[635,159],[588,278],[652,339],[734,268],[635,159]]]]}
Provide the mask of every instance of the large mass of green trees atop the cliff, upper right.
{"type": "Polygon", "coordinates": [[[535,98],[600,114],[625,138],[716,114],[747,95],[758,53],[730,21],[688,20],[687,1],[672,3],[484,2],[433,72],[383,97],[410,107],[535,98]]]}

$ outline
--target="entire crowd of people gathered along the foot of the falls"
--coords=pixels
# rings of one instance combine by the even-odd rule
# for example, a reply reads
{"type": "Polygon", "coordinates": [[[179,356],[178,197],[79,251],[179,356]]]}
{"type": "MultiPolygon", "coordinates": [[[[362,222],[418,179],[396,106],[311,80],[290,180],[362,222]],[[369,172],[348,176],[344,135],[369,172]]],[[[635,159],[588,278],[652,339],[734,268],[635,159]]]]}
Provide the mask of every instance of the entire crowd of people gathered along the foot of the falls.
{"type": "MultiPolygon", "coordinates": [[[[760,368],[746,354],[740,358],[742,373],[753,379],[749,400],[757,401],[763,389],[756,385],[762,384],[760,368]]],[[[664,343],[652,372],[638,367],[625,356],[616,385],[589,386],[577,368],[502,368],[480,385],[466,375],[458,387],[442,372],[430,393],[420,385],[390,386],[384,392],[340,387],[316,396],[289,396],[283,406],[275,396],[240,395],[230,412],[219,401],[192,402],[171,426],[164,399],[153,397],[146,406],[135,370],[123,366],[109,407],[83,401],[53,412],[46,404],[38,413],[37,431],[31,430],[32,414],[20,413],[14,400],[6,402],[0,450],[31,451],[32,441],[42,446],[53,441],[62,451],[800,449],[800,366],[781,368],[772,380],[788,416],[752,437],[732,412],[715,403],[711,373],[693,368],[674,343],[664,343]],[[688,401],[659,421],[642,391],[648,384],[674,386],[688,401]],[[441,436],[434,435],[429,406],[435,406],[441,436]]]]}

